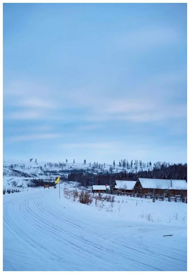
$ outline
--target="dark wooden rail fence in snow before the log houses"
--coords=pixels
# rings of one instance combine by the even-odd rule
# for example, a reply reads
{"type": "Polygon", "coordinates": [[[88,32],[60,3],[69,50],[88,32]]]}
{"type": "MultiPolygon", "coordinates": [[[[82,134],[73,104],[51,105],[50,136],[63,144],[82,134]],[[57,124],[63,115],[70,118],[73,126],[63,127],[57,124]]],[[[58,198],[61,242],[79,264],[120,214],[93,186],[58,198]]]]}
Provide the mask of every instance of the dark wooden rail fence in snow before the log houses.
{"type": "Polygon", "coordinates": [[[168,202],[182,202],[187,204],[187,197],[181,197],[181,196],[163,196],[163,195],[152,195],[152,194],[139,194],[139,193],[128,193],[128,192],[122,192],[120,190],[114,190],[114,195],[121,195],[121,196],[130,196],[130,197],[137,197],[137,198],[145,198],[145,199],[153,199],[159,200],[159,201],[168,201],[168,202]]]}

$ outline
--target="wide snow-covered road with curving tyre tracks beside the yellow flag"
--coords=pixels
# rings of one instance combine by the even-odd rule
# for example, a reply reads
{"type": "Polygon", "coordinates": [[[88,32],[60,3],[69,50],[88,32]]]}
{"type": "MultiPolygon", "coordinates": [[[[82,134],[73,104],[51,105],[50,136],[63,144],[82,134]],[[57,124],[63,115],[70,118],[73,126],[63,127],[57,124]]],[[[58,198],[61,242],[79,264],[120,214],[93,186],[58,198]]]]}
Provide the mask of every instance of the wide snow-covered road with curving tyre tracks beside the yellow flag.
{"type": "Polygon", "coordinates": [[[3,270],[187,270],[186,229],[113,219],[65,199],[62,189],[61,199],[52,188],[7,194],[3,270]]]}

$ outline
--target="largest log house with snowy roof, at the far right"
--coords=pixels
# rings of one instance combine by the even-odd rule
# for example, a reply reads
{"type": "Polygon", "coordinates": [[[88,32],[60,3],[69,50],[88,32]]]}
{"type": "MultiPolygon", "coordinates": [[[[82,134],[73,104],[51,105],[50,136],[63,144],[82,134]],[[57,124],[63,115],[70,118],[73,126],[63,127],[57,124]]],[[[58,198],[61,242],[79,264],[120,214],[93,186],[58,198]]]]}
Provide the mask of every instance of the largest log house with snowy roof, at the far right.
{"type": "Polygon", "coordinates": [[[187,182],[185,180],[138,178],[135,193],[181,195],[187,196],[187,182]]]}

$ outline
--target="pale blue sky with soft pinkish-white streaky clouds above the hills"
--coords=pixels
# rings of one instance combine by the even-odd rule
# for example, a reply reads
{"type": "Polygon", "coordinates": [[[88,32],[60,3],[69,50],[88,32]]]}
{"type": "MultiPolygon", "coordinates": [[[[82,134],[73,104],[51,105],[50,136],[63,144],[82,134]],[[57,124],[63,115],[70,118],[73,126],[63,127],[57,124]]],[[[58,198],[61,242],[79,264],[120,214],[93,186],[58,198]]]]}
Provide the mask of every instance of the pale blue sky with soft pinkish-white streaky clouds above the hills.
{"type": "Polygon", "coordinates": [[[187,162],[187,4],[3,4],[3,158],[187,162]]]}

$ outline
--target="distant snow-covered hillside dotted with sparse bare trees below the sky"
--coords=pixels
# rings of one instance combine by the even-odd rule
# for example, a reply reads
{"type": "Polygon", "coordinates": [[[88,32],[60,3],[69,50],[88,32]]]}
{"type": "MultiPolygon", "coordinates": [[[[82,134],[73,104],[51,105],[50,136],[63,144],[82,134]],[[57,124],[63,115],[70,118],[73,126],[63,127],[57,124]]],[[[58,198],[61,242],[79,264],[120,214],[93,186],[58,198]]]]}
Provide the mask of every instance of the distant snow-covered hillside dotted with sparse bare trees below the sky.
{"type": "MultiPolygon", "coordinates": [[[[35,163],[33,159],[30,161],[24,160],[5,160],[3,159],[3,188],[12,187],[12,182],[16,181],[17,186],[22,186],[22,189],[25,190],[28,182],[32,178],[41,178],[44,180],[54,180],[55,177],[59,175],[68,176],[69,172],[73,170],[84,170],[89,172],[106,172],[110,171],[110,167],[113,168],[113,172],[121,171],[134,171],[134,169],[127,169],[116,164],[115,168],[111,164],[99,164],[97,167],[92,170],[93,163],[89,165],[82,163],[54,163],[54,162],[38,162],[35,163]],[[103,169],[102,169],[103,166],[103,169]],[[100,168],[99,168],[100,167],[100,168]],[[54,172],[54,174],[53,174],[54,172]],[[56,173],[57,172],[57,173],[56,173]]],[[[146,169],[146,168],[144,168],[146,169]]],[[[137,171],[140,170],[138,166],[137,171]]]]}

